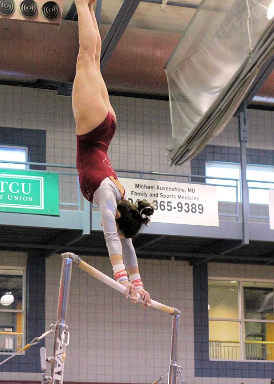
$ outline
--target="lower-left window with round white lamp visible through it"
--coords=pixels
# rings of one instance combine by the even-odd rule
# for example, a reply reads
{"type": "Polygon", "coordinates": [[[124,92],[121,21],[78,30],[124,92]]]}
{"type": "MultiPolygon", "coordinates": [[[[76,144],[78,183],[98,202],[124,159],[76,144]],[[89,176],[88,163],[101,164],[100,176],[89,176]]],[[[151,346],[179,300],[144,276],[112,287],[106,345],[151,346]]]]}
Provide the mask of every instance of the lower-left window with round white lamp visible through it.
{"type": "Polygon", "coordinates": [[[0,353],[17,352],[24,345],[24,270],[0,269],[0,353]]]}

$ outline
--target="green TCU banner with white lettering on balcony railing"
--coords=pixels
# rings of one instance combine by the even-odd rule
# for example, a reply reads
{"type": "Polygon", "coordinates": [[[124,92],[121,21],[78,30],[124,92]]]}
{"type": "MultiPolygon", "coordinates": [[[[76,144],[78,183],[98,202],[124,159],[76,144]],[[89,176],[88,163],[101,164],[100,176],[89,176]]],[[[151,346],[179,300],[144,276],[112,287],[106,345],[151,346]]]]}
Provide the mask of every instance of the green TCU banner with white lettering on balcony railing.
{"type": "Polygon", "coordinates": [[[0,169],[0,212],[59,216],[58,173],[0,169]]]}

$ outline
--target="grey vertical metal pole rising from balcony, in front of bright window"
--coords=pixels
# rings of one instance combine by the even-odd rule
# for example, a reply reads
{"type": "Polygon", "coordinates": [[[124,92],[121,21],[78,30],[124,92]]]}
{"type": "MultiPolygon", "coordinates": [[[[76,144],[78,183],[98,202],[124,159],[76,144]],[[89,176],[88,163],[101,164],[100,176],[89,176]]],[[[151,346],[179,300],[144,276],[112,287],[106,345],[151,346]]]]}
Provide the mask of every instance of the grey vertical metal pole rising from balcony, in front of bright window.
{"type": "Polygon", "coordinates": [[[249,244],[249,196],[247,182],[247,141],[248,141],[248,125],[246,116],[246,102],[243,101],[237,111],[238,117],[238,133],[241,148],[241,182],[242,182],[242,211],[243,211],[243,244],[249,244]]]}

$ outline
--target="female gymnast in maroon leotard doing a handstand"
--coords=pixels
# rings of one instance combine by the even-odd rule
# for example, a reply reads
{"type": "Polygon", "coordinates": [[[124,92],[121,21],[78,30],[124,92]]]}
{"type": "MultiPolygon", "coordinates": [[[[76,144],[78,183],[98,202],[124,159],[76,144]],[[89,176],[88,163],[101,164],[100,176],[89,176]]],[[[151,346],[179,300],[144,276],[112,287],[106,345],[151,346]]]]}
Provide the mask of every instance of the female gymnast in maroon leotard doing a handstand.
{"type": "Polygon", "coordinates": [[[153,206],[126,200],[108,158],[108,148],[116,129],[116,116],[106,84],[100,73],[101,38],[93,6],[96,0],[75,0],[79,21],[79,55],[73,86],[73,113],[77,133],[77,169],[84,197],[96,203],[113,266],[114,278],[126,287],[126,297],[143,306],[150,304],[144,290],[131,237],[147,225],[153,206]],[[129,280],[128,280],[128,274],[129,280]]]}

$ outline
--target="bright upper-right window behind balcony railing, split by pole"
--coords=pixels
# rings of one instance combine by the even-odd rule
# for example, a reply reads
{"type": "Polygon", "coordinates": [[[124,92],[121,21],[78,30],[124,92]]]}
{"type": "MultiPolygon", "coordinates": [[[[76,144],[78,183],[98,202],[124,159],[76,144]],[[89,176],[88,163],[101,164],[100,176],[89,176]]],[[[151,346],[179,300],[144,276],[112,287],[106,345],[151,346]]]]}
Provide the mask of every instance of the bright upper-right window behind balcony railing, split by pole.
{"type": "MultiPolygon", "coordinates": [[[[205,182],[207,184],[217,184],[218,201],[242,201],[241,184],[239,182],[241,178],[241,165],[217,162],[205,163],[205,176],[214,178],[205,179],[205,182]],[[222,180],[218,178],[234,180],[222,180]]],[[[268,189],[274,188],[274,167],[248,165],[247,180],[249,202],[251,204],[269,204],[268,189]]]]}

